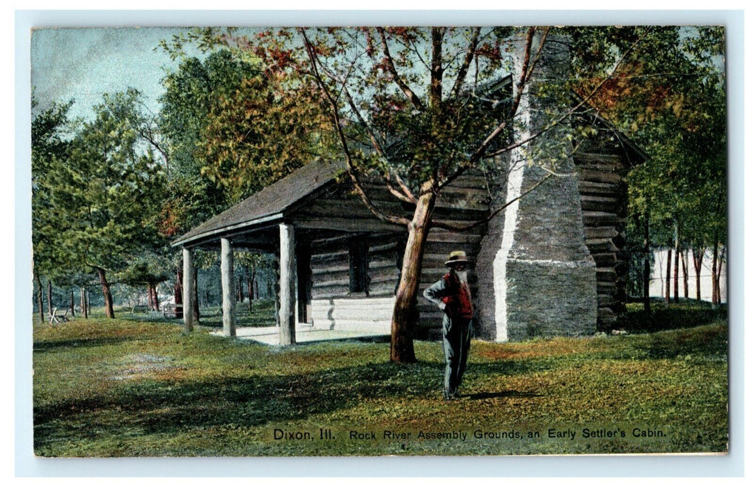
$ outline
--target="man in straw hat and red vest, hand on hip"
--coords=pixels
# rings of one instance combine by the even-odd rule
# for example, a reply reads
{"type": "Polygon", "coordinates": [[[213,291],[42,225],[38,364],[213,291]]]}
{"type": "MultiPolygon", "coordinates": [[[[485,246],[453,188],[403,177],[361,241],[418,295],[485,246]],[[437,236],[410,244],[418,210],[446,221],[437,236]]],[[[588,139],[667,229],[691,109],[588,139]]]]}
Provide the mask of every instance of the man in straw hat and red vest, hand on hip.
{"type": "Polygon", "coordinates": [[[468,259],[462,250],[450,253],[445,265],[448,274],[429,286],[424,296],[444,311],[443,351],[445,352],[445,383],[443,399],[458,399],[458,386],[466,368],[471,341],[471,319],[474,306],[467,280],[468,259]]]}

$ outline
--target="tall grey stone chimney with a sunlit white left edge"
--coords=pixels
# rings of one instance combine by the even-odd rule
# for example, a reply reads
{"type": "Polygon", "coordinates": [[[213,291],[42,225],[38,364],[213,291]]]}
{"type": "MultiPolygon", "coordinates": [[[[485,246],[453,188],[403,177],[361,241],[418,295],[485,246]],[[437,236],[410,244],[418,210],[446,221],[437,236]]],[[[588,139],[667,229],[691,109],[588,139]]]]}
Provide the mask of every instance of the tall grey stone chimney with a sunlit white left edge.
{"type": "MultiPolygon", "coordinates": [[[[535,38],[533,53],[541,37],[535,38]]],[[[525,38],[515,39],[513,90],[525,38]]],[[[528,139],[568,110],[569,38],[548,35],[516,114],[512,140],[528,139]],[[567,93],[565,93],[567,94],[567,93]]],[[[480,330],[495,342],[596,331],[596,265],[584,239],[569,119],[502,155],[492,173],[492,210],[518,198],[489,223],[477,256],[480,330]],[[548,172],[548,170],[550,172],[548,172]]]]}

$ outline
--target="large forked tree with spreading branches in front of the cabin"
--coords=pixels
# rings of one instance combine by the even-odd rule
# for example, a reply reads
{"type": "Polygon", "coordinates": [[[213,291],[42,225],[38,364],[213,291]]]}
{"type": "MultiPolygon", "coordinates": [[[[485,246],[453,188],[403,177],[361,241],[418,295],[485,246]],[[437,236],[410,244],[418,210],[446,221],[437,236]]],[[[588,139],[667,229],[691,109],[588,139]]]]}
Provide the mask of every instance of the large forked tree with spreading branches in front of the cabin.
{"type": "MultiPolygon", "coordinates": [[[[375,27],[296,33],[284,48],[280,38],[290,33],[260,32],[253,52],[270,69],[317,83],[329,104],[354,191],[377,218],[406,228],[391,360],[413,362],[417,294],[429,231],[463,231],[483,223],[459,227],[437,221],[438,195],[468,170],[494,165],[496,156],[523,146],[535,164],[557,173],[557,158],[538,158],[537,145],[529,142],[555,128],[570,136],[570,116],[585,108],[584,100],[572,102],[567,73],[557,80],[538,78],[538,63],[553,38],[547,28],[375,27]],[[509,88],[495,91],[509,75],[510,84],[503,83],[509,88]],[[547,119],[532,131],[516,130],[526,119],[525,93],[556,100],[538,115],[547,119]],[[375,176],[412,209],[408,214],[388,213],[372,201],[364,182],[375,176]]],[[[600,74],[585,99],[609,78],[608,72],[600,74]]],[[[536,186],[498,204],[490,217],[536,186]]]]}

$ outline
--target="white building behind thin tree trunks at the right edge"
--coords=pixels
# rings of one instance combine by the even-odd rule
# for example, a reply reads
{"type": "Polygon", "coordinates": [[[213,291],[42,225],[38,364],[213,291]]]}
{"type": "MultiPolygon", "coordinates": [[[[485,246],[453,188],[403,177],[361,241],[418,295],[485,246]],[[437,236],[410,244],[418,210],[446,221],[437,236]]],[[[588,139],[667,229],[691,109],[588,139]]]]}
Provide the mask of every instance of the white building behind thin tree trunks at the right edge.
{"type": "MultiPolygon", "coordinates": [[[[694,269],[694,257],[691,250],[686,252],[686,268],[688,272],[688,297],[696,299],[697,297],[697,271],[694,269]]],[[[725,256],[724,256],[725,258],[725,256]]],[[[673,259],[670,261],[670,299],[673,299],[673,265],[676,260],[676,254],[673,252],[673,259]]],[[[654,266],[652,268],[652,277],[649,283],[649,296],[664,298],[665,297],[665,277],[667,272],[667,250],[654,251],[654,266]]],[[[722,302],[728,302],[728,261],[724,260],[720,270],[720,299],[722,302]]],[[[700,270],[700,291],[703,301],[712,302],[712,250],[707,250],[702,259],[700,270]]],[[[683,298],[683,270],[682,264],[678,264],[678,296],[683,298]]]]}

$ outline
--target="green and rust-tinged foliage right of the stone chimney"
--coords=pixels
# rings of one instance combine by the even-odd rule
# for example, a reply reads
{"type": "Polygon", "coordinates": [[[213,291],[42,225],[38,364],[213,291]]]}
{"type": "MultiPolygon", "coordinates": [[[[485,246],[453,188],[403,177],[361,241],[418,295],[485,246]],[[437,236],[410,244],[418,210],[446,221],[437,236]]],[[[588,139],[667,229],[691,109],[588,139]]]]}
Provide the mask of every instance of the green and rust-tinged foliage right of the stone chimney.
{"type": "MultiPolygon", "coordinates": [[[[682,249],[725,244],[724,29],[582,27],[573,32],[576,66],[583,70],[607,69],[642,39],[593,100],[648,155],[628,178],[630,249],[642,251],[645,218],[653,249],[673,247],[676,230],[682,249]]],[[[633,265],[632,274],[640,276],[641,259],[633,265]]]]}

